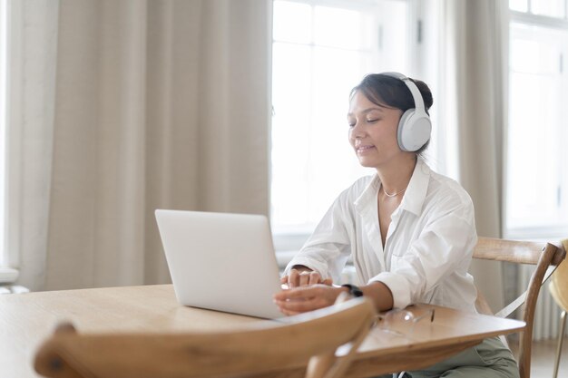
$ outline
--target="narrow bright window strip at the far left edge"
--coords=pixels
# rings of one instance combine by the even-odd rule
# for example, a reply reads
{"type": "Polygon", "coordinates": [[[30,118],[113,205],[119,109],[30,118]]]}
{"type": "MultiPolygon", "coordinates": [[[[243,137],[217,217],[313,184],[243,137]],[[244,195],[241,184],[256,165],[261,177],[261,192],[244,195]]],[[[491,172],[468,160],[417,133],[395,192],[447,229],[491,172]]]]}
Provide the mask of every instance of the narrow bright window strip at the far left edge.
{"type": "Polygon", "coordinates": [[[5,264],[5,151],[7,119],[8,0],[0,0],[0,267],[5,264]]]}

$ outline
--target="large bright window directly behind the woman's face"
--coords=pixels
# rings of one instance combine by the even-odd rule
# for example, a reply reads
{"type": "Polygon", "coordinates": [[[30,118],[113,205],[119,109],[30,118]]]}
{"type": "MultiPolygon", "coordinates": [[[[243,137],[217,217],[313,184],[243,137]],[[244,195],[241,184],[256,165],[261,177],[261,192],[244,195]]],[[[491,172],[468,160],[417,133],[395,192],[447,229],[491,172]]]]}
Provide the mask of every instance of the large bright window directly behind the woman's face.
{"type": "Polygon", "coordinates": [[[408,69],[406,1],[274,1],[271,226],[301,242],[361,168],[348,94],[364,74],[408,69]],[[396,35],[396,38],[389,36],[396,35]]]}

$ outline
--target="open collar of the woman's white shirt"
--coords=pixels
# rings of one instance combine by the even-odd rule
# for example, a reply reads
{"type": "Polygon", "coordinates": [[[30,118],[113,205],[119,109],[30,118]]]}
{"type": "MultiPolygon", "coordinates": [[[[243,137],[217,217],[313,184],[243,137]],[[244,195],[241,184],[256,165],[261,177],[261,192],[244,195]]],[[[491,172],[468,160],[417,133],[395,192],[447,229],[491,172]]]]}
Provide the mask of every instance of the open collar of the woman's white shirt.
{"type": "MultiPolygon", "coordinates": [[[[426,199],[426,191],[428,189],[428,181],[430,179],[430,168],[421,158],[417,158],[416,166],[412,172],[410,182],[406,188],[405,196],[398,207],[401,210],[410,211],[416,216],[422,212],[422,206],[426,199]]],[[[361,195],[355,200],[355,208],[359,214],[364,213],[369,208],[369,203],[377,204],[377,191],[380,188],[380,179],[378,174],[368,183],[361,195]]]]}

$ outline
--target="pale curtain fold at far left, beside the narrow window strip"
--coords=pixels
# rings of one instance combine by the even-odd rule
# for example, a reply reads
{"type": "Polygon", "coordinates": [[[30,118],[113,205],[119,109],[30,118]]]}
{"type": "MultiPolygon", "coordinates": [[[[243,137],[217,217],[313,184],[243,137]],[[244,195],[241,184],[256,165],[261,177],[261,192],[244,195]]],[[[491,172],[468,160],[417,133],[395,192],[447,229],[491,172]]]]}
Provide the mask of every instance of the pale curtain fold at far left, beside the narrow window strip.
{"type": "Polygon", "coordinates": [[[41,286],[54,143],[56,0],[12,2],[10,109],[7,135],[7,247],[19,282],[41,286]],[[25,251],[25,252],[24,252],[25,251]]]}

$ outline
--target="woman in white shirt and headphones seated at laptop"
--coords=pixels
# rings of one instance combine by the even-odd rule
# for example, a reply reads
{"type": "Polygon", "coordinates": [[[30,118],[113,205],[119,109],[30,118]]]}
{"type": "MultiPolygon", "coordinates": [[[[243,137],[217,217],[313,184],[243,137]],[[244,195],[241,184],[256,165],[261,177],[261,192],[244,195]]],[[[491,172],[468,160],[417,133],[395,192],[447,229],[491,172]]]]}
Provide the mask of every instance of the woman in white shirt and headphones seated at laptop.
{"type": "MultiPolygon", "coordinates": [[[[289,290],[274,298],[284,314],[332,305],[341,292],[368,296],[378,311],[429,303],[475,312],[467,273],[477,241],[472,201],[420,156],[430,137],[432,103],[426,83],[400,73],[369,74],[352,90],[349,143],[360,164],[377,173],[339,195],[289,263],[282,277],[289,290]],[[348,257],[363,285],[331,286],[348,257]]],[[[492,338],[409,374],[516,377],[518,369],[492,338]]]]}

